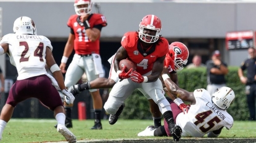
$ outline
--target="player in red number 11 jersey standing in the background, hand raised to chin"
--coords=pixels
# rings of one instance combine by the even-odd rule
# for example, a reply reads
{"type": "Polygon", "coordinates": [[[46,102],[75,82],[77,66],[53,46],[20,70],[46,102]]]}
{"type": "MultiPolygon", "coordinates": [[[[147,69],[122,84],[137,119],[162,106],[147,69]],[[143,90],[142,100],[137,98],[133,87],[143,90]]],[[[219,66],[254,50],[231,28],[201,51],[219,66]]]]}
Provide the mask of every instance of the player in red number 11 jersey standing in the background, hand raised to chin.
{"type": "MultiPolygon", "coordinates": [[[[91,14],[93,3],[91,0],[75,0],[75,15],[72,15],[67,22],[70,28],[67,44],[65,45],[60,69],[65,73],[68,57],[73,49],[75,55],[68,66],[65,74],[65,86],[71,87],[80,80],[85,72],[89,81],[99,77],[103,73],[101,56],[99,55],[99,37],[101,29],[107,26],[107,21],[102,14],[91,14]]],[[[97,89],[89,90],[93,98],[93,109],[95,114],[94,126],[91,129],[102,129],[101,110],[102,99],[97,89]]],[[[64,104],[66,110],[65,125],[72,128],[72,107],[64,104]]]]}

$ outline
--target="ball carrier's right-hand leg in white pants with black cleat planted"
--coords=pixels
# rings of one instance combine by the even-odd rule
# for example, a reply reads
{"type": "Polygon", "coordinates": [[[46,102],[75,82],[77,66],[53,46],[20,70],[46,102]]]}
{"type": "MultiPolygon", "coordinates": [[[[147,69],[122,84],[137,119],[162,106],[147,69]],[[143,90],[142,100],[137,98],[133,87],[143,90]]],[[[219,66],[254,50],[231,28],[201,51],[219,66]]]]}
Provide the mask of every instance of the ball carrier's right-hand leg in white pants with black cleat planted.
{"type": "Polygon", "coordinates": [[[151,83],[142,83],[142,89],[151,96],[151,98],[159,105],[159,109],[163,114],[163,117],[168,123],[168,128],[170,133],[173,135],[175,141],[179,141],[182,133],[180,126],[176,126],[173,114],[171,112],[170,103],[167,101],[163,95],[163,87],[161,81],[158,79],[155,82],[151,83]],[[152,88],[154,87],[154,88],[152,88]]]}

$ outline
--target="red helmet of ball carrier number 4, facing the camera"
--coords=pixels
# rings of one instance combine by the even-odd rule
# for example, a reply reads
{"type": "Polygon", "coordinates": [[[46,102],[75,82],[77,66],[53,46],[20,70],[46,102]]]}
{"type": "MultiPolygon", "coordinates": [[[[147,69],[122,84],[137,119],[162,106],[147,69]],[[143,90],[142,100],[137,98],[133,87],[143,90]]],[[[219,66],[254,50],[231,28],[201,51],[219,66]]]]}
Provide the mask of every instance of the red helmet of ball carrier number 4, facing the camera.
{"type": "Polygon", "coordinates": [[[146,43],[154,43],[159,39],[159,34],[162,29],[161,20],[155,15],[146,15],[139,23],[139,39],[146,43]],[[155,30],[155,35],[144,34],[144,28],[155,30]]]}

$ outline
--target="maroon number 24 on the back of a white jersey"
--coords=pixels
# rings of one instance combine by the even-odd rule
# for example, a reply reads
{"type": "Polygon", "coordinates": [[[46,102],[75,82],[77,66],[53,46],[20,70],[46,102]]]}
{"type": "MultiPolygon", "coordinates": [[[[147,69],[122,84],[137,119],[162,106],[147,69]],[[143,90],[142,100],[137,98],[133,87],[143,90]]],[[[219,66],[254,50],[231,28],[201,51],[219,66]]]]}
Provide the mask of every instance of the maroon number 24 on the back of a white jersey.
{"type": "MultiPolygon", "coordinates": [[[[20,63],[23,61],[28,61],[28,59],[30,58],[30,56],[25,57],[25,55],[28,53],[28,43],[25,41],[20,42],[20,46],[24,46],[25,49],[22,52],[21,58],[20,58],[20,63]]],[[[40,61],[44,61],[43,60],[43,50],[44,50],[44,44],[42,42],[39,43],[38,47],[36,48],[36,50],[34,51],[34,56],[39,56],[39,60],[40,61]]]]}

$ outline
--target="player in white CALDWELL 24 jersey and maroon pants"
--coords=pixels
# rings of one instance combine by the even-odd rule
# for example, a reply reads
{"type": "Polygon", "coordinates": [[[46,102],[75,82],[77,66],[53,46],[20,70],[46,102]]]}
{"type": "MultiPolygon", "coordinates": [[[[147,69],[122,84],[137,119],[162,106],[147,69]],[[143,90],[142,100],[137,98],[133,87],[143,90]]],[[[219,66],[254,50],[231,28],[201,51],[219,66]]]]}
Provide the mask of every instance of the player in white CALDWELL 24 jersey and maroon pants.
{"type": "Polygon", "coordinates": [[[51,42],[47,37],[36,35],[36,25],[29,17],[17,18],[13,30],[14,34],[7,34],[0,42],[0,55],[7,53],[10,63],[19,73],[0,115],[0,140],[15,106],[25,99],[37,98],[44,106],[54,111],[58,123],[57,131],[68,142],[76,142],[74,134],[65,126],[65,110],[54,86],[60,88],[67,104],[72,104],[75,98],[65,88],[60,68],[52,56],[51,42]],[[50,67],[53,77],[47,74],[44,68],[46,64],[50,67]]]}

